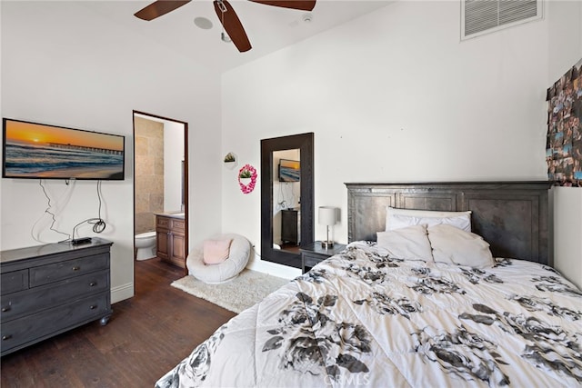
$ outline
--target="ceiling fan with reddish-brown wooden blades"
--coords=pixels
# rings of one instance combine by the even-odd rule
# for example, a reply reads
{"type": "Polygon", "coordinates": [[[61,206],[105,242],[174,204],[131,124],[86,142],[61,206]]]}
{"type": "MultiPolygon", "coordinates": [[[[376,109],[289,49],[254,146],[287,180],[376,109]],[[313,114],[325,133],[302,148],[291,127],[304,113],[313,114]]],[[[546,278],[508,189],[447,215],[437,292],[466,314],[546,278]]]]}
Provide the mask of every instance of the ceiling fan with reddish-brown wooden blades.
{"type": "MultiPolygon", "coordinates": [[[[157,0],[156,2],[147,5],[145,8],[135,13],[136,17],[143,20],[154,20],[156,17],[166,15],[168,12],[174,11],[176,8],[190,3],[191,0],[157,0]]],[[[274,5],[283,8],[298,9],[303,11],[311,11],[316,6],[316,0],[249,0],[254,3],[264,5],[274,5]]],[[[230,36],[232,42],[241,53],[251,49],[251,43],[246,36],[245,28],[240,23],[238,16],[232,5],[226,0],[215,0],[215,11],[220,19],[220,23],[225,28],[226,34],[230,36]]]]}

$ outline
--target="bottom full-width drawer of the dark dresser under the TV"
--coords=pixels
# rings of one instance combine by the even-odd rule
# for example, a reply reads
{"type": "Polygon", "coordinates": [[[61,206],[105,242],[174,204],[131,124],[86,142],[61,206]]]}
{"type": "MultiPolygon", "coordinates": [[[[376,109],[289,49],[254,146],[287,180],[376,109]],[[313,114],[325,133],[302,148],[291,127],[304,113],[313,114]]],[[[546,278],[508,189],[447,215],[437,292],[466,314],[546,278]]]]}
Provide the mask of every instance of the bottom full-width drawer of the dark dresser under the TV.
{"type": "Polygon", "coordinates": [[[107,296],[106,293],[93,295],[75,303],[0,324],[2,353],[17,346],[37,343],[111,313],[107,296]]]}

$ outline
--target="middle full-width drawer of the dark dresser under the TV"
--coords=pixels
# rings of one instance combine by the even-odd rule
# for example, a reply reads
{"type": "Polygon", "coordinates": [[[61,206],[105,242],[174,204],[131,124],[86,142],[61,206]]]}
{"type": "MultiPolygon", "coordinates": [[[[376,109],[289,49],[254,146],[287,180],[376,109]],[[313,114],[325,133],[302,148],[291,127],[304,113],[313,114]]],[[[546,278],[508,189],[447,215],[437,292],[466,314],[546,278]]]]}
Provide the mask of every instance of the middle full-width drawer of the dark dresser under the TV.
{"type": "Polygon", "coordinates": [[[75,276],[22,293],[3,294],[0,298],[2,306],[0,322],[6,323],[31,312],[40,312],[75,301],[85,295],[103,292],[109,292],[108,270],[75,276]]]}

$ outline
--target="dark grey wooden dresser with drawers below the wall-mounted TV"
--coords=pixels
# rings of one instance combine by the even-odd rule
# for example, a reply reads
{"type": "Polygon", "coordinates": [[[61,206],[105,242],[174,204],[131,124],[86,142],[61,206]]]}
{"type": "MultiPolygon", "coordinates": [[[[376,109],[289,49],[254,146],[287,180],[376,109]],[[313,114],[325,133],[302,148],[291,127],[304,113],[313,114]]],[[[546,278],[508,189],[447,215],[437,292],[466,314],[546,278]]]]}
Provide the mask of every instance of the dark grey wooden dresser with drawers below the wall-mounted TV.
{"type": "Polygon", "coordinates": [[[1,355],[95,320],[105,325],[112,244],[93,237],[0,252],[1,355]]]}

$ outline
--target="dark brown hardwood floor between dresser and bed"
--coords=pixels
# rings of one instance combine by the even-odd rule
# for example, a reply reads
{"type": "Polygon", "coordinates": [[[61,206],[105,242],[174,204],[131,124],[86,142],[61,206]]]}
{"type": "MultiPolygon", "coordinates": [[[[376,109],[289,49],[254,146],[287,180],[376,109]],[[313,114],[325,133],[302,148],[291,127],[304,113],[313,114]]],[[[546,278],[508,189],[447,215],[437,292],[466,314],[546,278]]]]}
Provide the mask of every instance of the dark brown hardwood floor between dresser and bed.
{"type": "Polygon", "coordinates": [[[135,296],[113,304],[107,325],[88,323],[0,360],[1,386],[153,387],[236,315],[170,284],[184,270],[135,262],[135,296]]]}

